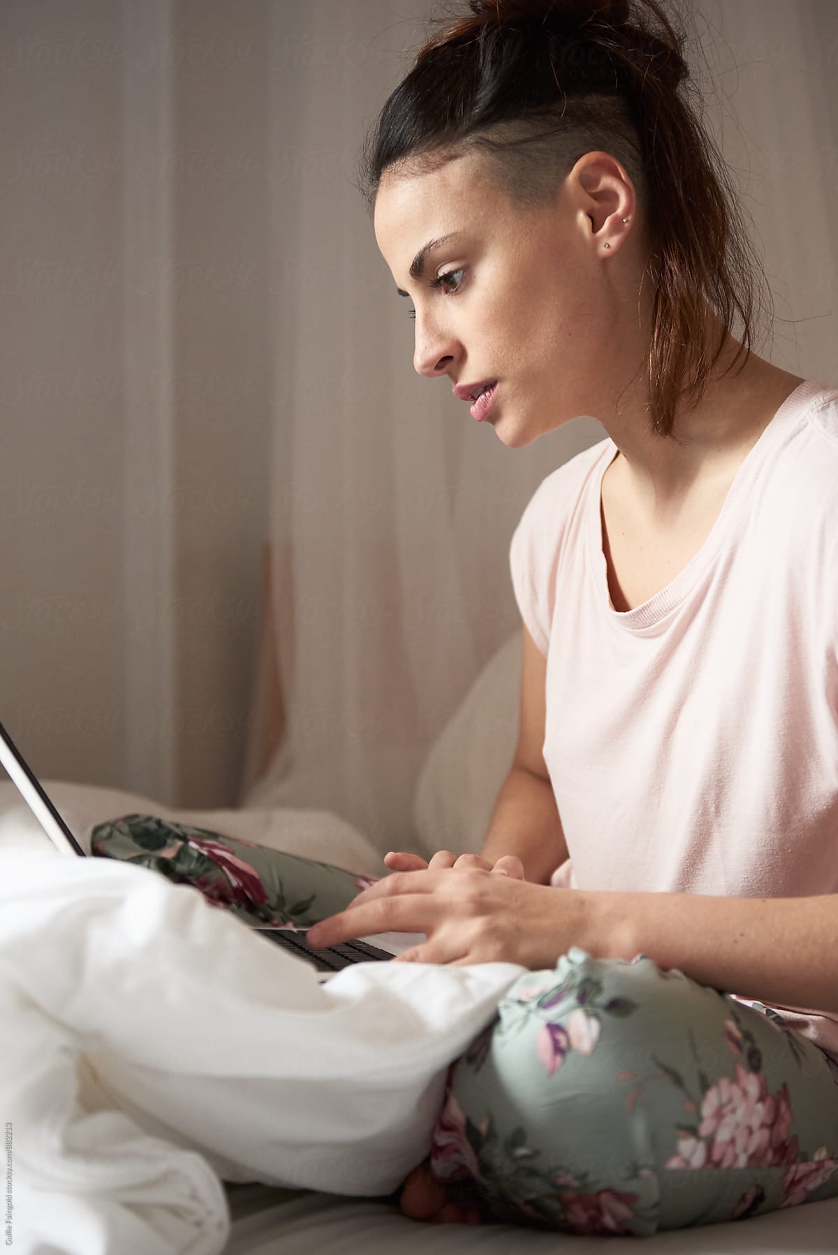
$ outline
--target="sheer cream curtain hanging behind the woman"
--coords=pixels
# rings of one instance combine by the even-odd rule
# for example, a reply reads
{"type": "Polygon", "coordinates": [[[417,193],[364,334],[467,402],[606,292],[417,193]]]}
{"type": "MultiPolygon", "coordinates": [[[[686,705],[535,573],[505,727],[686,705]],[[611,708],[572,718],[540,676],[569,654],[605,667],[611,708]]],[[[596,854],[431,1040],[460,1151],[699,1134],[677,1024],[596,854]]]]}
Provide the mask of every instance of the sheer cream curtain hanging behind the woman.
{"type": "MultiPolygon", "coordinates": [[[[271,14],[273,633],[284,734],[248,804],[327,807],[410,846],[427,752],[519,630],[508,551],[538,483],[603,437],[579,418],[504,447],[412,369],[412,329],[353,186],[366,127],[422,39],[418,0],[271,14]]],[[[835,379],[838,10],[696,8],[694,64],[776,300],[763,353],[835,379]]],[[[265,659],[263,659],[263,671],[265,659]]]]}

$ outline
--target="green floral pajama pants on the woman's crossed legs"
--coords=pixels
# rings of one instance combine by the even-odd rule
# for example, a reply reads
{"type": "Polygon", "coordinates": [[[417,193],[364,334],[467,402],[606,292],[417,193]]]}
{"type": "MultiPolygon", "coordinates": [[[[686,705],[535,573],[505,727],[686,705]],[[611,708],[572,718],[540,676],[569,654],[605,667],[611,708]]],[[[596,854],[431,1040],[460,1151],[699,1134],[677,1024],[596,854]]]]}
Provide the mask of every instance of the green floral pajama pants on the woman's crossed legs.
{"type": "MultiPolygon", "coordinates": [[[[313,924],[374,877],[177,825],[99,825],[95,855],[251,922],[313,924]]],[[[776,1012],[638,955],[520,976],[450,1068],[431,1167],[498,1220],[633,1234],[838,1195],[838,1063],[776,1012]]]]}

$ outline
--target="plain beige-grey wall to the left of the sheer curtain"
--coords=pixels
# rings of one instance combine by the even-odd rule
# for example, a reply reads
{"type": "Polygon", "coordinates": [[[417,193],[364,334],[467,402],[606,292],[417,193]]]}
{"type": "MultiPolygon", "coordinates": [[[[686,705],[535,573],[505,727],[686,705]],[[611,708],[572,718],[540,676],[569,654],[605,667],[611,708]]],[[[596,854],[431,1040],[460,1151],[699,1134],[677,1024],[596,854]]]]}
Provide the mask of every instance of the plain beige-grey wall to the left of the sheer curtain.
{"type": "Polygon", "coordinates": [[[231,802],[266,537],[266,5],[0,15],[0,718],[231,802]]]}

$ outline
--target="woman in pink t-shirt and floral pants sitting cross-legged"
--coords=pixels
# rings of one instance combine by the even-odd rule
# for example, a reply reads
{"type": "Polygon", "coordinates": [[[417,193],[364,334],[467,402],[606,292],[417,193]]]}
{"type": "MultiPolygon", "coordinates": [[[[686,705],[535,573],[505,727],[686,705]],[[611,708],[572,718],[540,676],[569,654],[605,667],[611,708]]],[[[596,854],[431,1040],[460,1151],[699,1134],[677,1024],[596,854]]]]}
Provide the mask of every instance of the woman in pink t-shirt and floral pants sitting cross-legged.
{"type": "Polygon", "coordinates": [[[415,365],[511,448],[577,414],[609,439],[513,538],[520,737],[482,856],[391,853],[309,940],[536,973],[452,1067],[411,1215],[648,1234],[825,1197],[838,392],[750,351],[759,267],[663,5],[470,10],[366,153],[415,365]]]}

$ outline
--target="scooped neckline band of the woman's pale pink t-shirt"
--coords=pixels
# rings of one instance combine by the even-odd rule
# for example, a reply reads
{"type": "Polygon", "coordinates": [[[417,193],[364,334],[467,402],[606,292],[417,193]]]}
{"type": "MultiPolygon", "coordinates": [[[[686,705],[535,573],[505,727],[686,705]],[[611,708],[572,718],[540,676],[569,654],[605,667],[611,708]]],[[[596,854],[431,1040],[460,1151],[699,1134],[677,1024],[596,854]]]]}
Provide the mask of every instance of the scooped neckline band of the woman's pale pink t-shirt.
{"type": "Polygon", "coordinates": [[[789,393],[785,400],[775,410],[771,420],[765,425],[753,448],[745,454],[734,481],[727,489],[727,496],[722,503],[719,516],[704,545],[697,553],[687,562],[682,571],[675,576],[666,587],[661,589],[647,601],[641,602],[632,610],[614,610],[608,587],[608,563],[602,543],[602,482],[606,471],[614,461],[618,447],[611,439],[606,441],[602,452],[601,464],[593,477],[593,491],[589,501],[589,552],[593,558],[593,575],[597,582],[597,601],[613,624],[627,631],[643,631],[655,628],[676,606],[678,606],[696,582],[714,562],[725,540],[739,520],[743,506],[748,501],[750,488],[756,479],[763,463],[765,462],[774,443],[783,435],[785,420],[793,414],[799,414],[805,402],[823,390],[823,384],[818,380],[804,379],[803,383],[789,393]]]}

